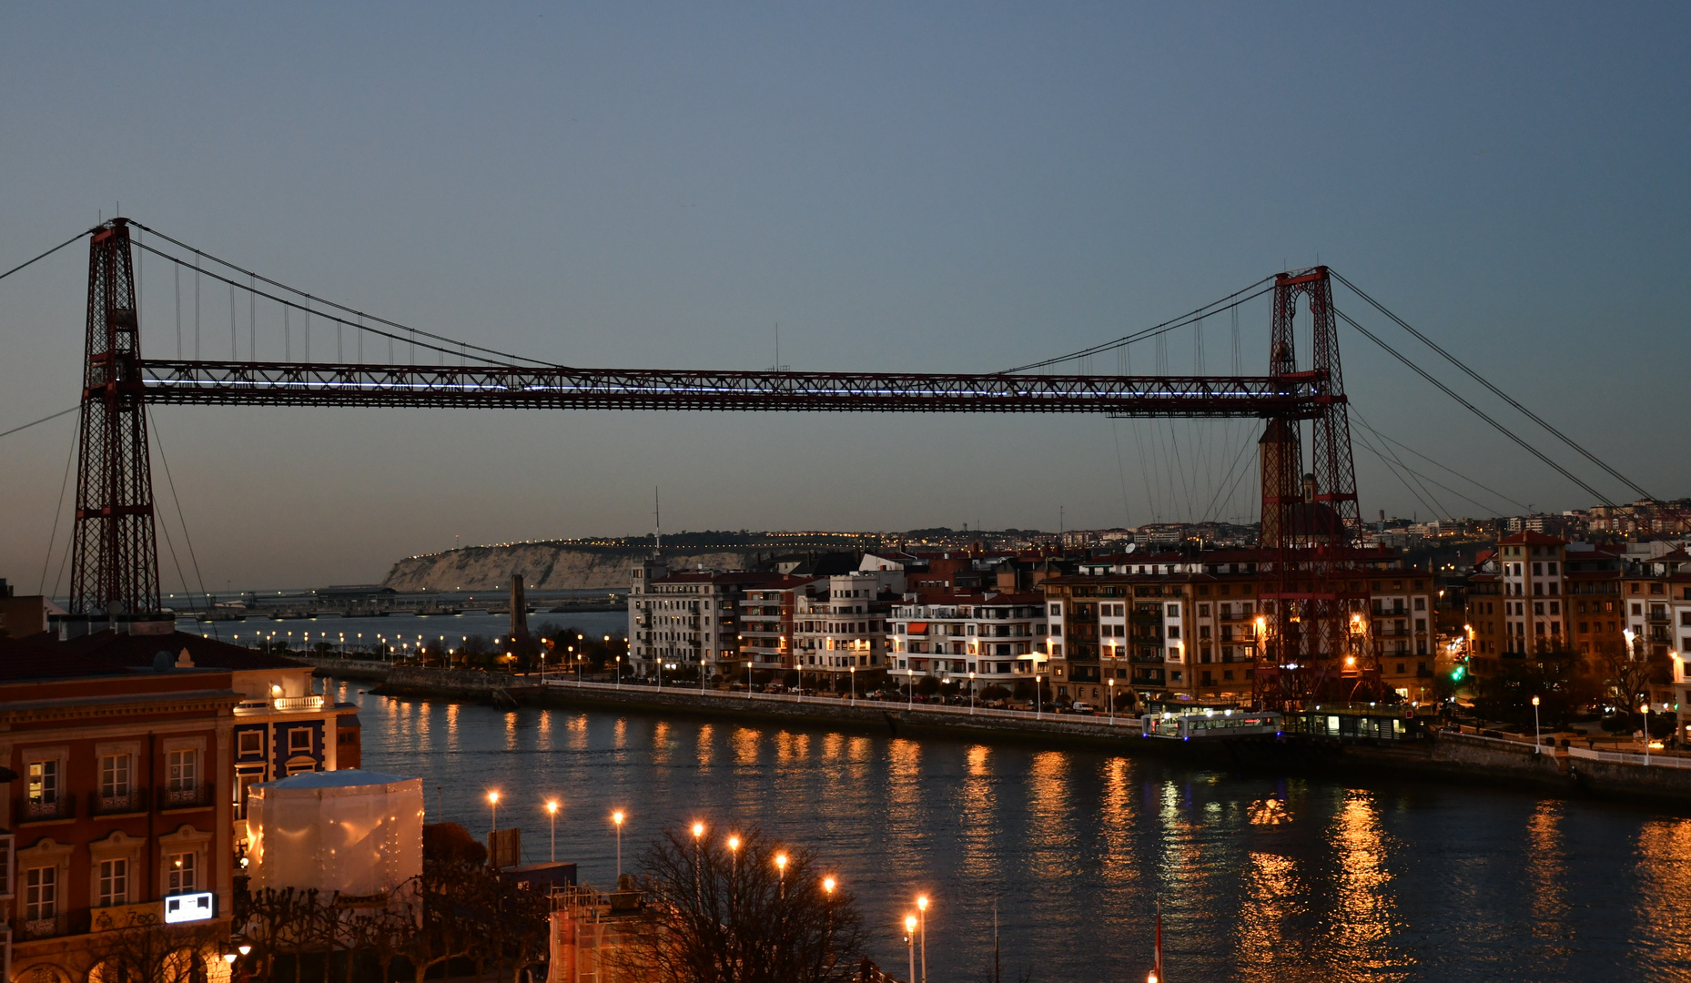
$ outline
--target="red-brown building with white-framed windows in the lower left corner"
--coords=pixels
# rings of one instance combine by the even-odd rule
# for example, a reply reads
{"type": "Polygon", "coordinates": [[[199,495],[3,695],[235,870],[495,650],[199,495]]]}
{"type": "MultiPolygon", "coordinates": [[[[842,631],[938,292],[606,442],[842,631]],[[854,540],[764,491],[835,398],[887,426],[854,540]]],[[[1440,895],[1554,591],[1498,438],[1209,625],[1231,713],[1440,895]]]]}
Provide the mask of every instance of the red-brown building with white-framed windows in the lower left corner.
{"type": "MultiPolygon", "coordinates": [[[[129,670],[0,638],[12,980],[91,978],[115,927],[227,932],[240,702],[228,670],[129,670]]],[[[189,953],[196,978],[227,978],[216,951],[189,953]]]]}

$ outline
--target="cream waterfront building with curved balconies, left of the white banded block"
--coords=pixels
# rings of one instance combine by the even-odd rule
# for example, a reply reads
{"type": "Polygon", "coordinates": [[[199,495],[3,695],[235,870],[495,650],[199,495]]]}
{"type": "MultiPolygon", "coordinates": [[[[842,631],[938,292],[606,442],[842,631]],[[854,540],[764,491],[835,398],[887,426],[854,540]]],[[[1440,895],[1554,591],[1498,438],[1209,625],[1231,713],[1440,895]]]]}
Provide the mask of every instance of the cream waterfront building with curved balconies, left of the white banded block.
{"type": "Polygon", "coordinates": [[[847,677],[884,670],[888,614],[903,592],[903,570],[837,574],[825,590],[796,592],[795,668],[835,690],[851,687],[847,677]]]}

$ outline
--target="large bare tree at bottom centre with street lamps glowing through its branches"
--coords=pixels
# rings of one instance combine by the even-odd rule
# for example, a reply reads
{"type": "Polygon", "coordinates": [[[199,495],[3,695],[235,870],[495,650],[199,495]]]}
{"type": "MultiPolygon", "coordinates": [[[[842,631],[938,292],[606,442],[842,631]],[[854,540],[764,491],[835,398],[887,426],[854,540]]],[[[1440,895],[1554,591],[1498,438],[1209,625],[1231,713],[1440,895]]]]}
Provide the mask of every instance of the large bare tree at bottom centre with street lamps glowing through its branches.
{"type": "Polygon", "coordinates": [[[827,983],[857,976],[862,919],[849,892],[824,887],[812,851],[758,829],[709,843],[665,832],[641,856],[644,924],[614,956],[654,983],[827,983]],[[776,858],[783,856],[785,865],[776,858]]]}

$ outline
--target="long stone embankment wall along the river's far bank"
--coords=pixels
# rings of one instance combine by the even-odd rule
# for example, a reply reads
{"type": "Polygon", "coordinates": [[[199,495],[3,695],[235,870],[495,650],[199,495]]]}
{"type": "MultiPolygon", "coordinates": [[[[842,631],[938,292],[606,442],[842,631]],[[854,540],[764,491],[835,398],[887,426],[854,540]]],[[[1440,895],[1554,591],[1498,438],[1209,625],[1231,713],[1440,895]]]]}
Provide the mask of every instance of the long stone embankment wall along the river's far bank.
{"type": "Polygon", "coordinates": [[[1333,739],[1302,734],[1282,738],[1209,738],[1168,741],[1145,738],[1136,717],[1026,714],[835,697],[791,697],[646,684],[539,682],[489,672],[392,667],[382,662],[311,658],[318,675],[375,682],[374,694],[495,707],[575,707],[658,716],[727,717],[798,728],[844,729],[906,738],[952,738],[989,743],[1038,743],[1153,755],[1194,765],[1241,772],[1322,773],[1339,778],[1414,777],[1441,783],[1505,783],[1551,795],[1625,799],[1691,809],[1691,766],[1657,756],[1544,748],[1527,741],[1432,729],[1422,739],[1333,739]]]}

